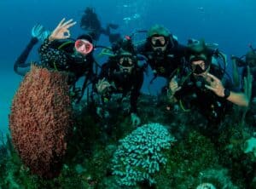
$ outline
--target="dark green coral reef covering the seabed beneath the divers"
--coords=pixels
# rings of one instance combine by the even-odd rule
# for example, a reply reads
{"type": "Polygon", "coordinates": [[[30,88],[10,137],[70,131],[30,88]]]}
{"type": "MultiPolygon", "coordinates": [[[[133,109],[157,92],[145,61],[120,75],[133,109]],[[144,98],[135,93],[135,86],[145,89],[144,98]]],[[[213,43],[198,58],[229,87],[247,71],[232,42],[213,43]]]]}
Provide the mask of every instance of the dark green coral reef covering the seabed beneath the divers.
{"type": "MultiPolygon", "coordinates": [[[[204,117],[201,117],[199,113],[183,112],[172,106],[170,110],[167,110],[165,102],[160,102],[157,97],[146,94],[142,94],[138,104],[138,114],[143,123],[165,125],[162,136],[169,135],[168,131],[173,135],[173,137],[170,136],[171,139],[175,137],[177,141],[172,147],[160,148],[160,152],[156,150],[159,157],[166,159],[163,163],[159,161],[159,170],[158,166],[149,168],[148,163],[145,163],[148,169],[132,164],[136,160],[129,162],[130,166],[127,165],[127,168],[132,168],[137,173],[149,175],[151,183],[147,177],[138,176],[134,186],[120,186],[118,181],[122,181],[125,175],[123,177],[113,175],[113,165],[119,163],[120,167],[117,170],[123,171],[125,161],[128,158],[132,160],[132,154],[142,157],[142,161],[146,159],[143,158],[143,154],[139,156],[135,150],[145,150],[150,145],[154,145],[146,140],[144,143],[135,142],[139,139],[139,134],[143,134],[145,130],[128,138],[143,126],[133,127],[129,115],[122,112],[124,107],[121,104],[113,103],[109,111],[110,117],[102,118],[96,115],[95,103],[88,104],[88,101],[84,100],[74,106],[73,129],[67,141],[67,152],[63,158],[64,165],[60,175],[52,180],[32,175],[31,170],[22,163],[23,160],[20,159],[17,151],[11,150],[12,147],[8,145],[10,153],[0,162],[0,188],[187,189],[197,186],[227,189],[256,188],[255,157],[253,152],[245,153],[246,141],[255,137],[255,127],[247,117],[245,117],[245,124],[241,124],[241,116],[236,114],[241,111],[226,115],[224,123],[216,128],[210,128],[207,127],[204,117]],[[218,131],[218,135],[212,135],[213,129],[218,131]],[[125,149],[124,146],[121,148],[122,145],[119,143],[126,137],[130,139],[126,144],[133,144],[137,147],[134,147],[135,150],[130,153],[128,148],[125,149]],[[120,155],[119,159],[116,159],[117,163],[113,163],[114,152],[118,151],[126,152],[131,156],[120,155]],[[154,173],[149,174],[149,170],[154,173]]],[[[27,105],[25,107],[27,108],[27,105]]],[[[44,131],[41,132],[44,133],[44,131]]],[[[155,140],[158,134],[159,132],[151,132],[147,136],[155,140]]],[[[45,142],[48,144],[48,141],[45,142]]],[[[157,149],[157,146],[154,147],[157,149]]],[[[41,149],[38,147],[35,151],[41,149]]],[[[38,152],[32,154],[37,155],[38,152]]],[[[149,160],[149,164],[153,164],[152,156],[149,160]]],[[[128,172],[126,175],[132,177],[132,174],[133,172],[128,172]]]]}

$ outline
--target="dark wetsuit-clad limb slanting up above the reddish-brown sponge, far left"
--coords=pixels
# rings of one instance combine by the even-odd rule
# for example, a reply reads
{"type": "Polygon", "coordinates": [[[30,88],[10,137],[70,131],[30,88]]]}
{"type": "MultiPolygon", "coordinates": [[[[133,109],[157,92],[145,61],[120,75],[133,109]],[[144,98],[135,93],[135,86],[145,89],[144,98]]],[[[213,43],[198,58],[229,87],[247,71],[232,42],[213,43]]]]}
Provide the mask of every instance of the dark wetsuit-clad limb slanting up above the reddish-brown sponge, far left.
{"type": "Polygon", "coordinates": [[[32,48],[38,43],[37,37],[32,37],[30,42],[26,45],[26,48],[22,51],[18,59],[15,61],[14,71],[24,76],[26,72],[29,71],[31,63],[26,63],[26,59],[29,53],[32,51],[32,48]],[[22,69],[22,70],[21,70],[22,69]],[[24,69],[24,70],[23,70],[24,69]]]}

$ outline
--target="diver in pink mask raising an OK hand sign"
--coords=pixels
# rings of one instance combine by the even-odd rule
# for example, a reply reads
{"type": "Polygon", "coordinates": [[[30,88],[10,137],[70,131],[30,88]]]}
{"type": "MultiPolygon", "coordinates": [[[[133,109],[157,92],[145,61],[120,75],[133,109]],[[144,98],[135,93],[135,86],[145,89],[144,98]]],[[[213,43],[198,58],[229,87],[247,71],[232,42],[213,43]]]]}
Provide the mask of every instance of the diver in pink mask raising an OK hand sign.
{"type": "Polygon", "coordinates": [[[62,19],[44,40],[39,54],[42,66],[68,73],[72,96],[78,103],[84,95],[84,89],[89,83],[93,83],[96,75],[93,71],[93,40],[90,35],[81,35],[76,40],[71,39],[69,28],[75,24],[73,20],[62,19]],[[80,77],[84,77],[82,89],[76,88],[80,77]]]}

